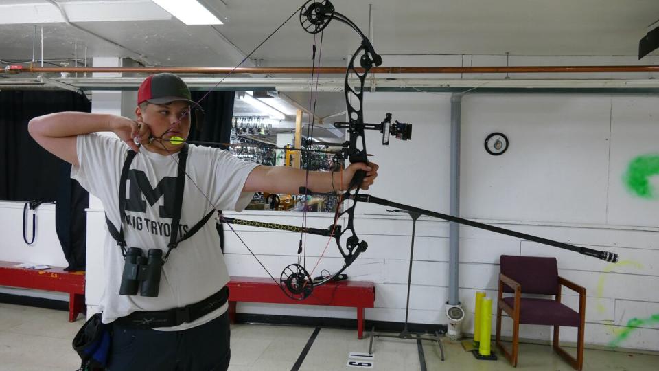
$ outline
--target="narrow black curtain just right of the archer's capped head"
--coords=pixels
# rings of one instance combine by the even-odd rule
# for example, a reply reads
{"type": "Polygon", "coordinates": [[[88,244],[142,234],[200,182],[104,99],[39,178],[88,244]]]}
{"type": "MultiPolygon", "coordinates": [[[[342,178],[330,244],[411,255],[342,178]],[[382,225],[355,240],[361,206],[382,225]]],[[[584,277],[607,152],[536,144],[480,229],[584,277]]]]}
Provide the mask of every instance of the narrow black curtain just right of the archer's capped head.
{"type": "MultiPolygon", "coordinates": [[[[205,91],[192,91],[192,100],[199,102],[206,95],[205,91]]],[[[213,91],[203,98],[199,105],[204,110],[204,120],[199,127],[192,125],[189,140],[229,143],[231,141],[231,122],[233,121],[233,100],[235,91],[213,91]]],[[[227,146],[218,146],[227,149],[227,146]]],[[[220,236],[220,248],[224,252],[224,228],[217,223],[220,236]]]]}

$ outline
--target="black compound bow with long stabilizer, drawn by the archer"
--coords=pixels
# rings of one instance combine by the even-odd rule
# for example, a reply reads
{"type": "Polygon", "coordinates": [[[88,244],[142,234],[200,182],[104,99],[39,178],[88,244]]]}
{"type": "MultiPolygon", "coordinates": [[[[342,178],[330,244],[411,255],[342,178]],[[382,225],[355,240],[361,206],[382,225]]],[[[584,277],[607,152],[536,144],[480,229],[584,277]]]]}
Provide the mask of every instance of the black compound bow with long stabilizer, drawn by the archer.
{"type": "MultiPolygon", "coordinates": [[[[288,22],[288,20],[290,20],[292,16],[294,16],[294,14],[295,13],[289,16],[288,19],[284,21],[284,23],[279,25],[277,30],[279,30],[279,28],[281,28],[286,22],[288,22]]],[[[391,135],[394,135],[398,139],[402,139],[402,140],[411,139],[412,126],[411,124],[405,124],[397,121],[392,124],[390,113],[386,114],[386,117],[384,117],[384,120],[380,124],[368,124],[364,122],[363,98],[364,98],[365,82],[367,81],[367,76],[369,74],[370,69],[373,66],[379,66],[382,64],[382,57],[375,52],[375,49],[373,49],[373,45],[371,45],[371,41],[369,41],[369,38],[365,36],[365,34],[359,29],[359,27],[357,27],[357,25],[353,21],[348,19],[347,16],[336,12],[334,10],[334,5],[332,5],[332,3],[329,0],[322,0],[322,1],[308,0],[304,3],[304,5],[301,6],[301,8],[299,8],[300,23],[303,29],[306,32],[309,32],[310,34],[318,34],[319,32],[322,32],[323,30],[325,30],[327,25],[329,25],[330,21],[335,19],[337,21],[340,21],[341,23],[345,23],[353,30],[355,30],[362,38],[362,41],[360,47],[358,47],[356,52],[350,58],[348,67],[345,72],[345,84],[344,84],[345,104],[347,106],[347,117],[349,121],[334,123],[334,126],[336,128],[347,129],[347,132],[349,133],[349,140],[347,142],[343,142],[339,144],[331,144],[331,145],[342,147],[343,149],[340,150],[340,153],[343,155],[343,158],[349,159],[351,164],[357,162],[368,163],[365,130],[380,131],[382,133],[382,144],[386,145],[389,144],[389,138],[391,137],[391,135]],[[355,66],[357,59],[359,59],[359,67],[355,66]],[[359,86],[356,88],[353,88],[350,85],[349,78],[351,75],[357,76],[359,80],[359,86]]],[[[275,32],[277,32],[277,30],[275,30],[275,32]]],[[[273,36],[275,32],[270,34],[270,36],[273,36]]],[[[268,36],[262,43],[260,43],[255,49],[253,49],[253,51],[249,53],[248,56],[244,58],[244,60],[246,60],[261,45],[263,45],[268,40],[268,38],[270,38],[270,36],[268,36]]],[[[314,51],[315,51],[315,44],[314,44],[314,51]]],[[[229,74],[227,74],[227,76],[224,76],[224,78],[230,76],[231,73],[244,62],[244,60],[241,63],[239,63],[236,67],[234,67],[233,70],[229,74]]],[[[314,55],[314,60],[315,60],[315,55],[314,55]]],[[[215,87],[220,85],[220,83],[224,80],[224,78],[222,78],[222,80],[220,80],[220,82],[218,82],[218,84],[215,87]]],[[[215,87],[213,87],[213,89],[215,87]]],[[[211,89],[211,91],[213,89],[211,89]]],[[[203,100],[205,97],[206,95],[204,95],[204,97],[201,98],[199,101],[203,100]]],[[[176,157],[174,156],[172,157],[176,159],[176,157]]],[[[231,231],[236,236],[238,236],[238,239],[243,243],[243,245],[257,260],[259,260],[257,256],[251,251],[251,249],[249,249],[249,247],[246,245],[244,240],[240,238],[238,232],[236,232],[231,225],[233,224],[249,225],[249,226],[264,227],[270,229],[280,229],[291,232],[300,232],[301,234],[316,234],[320,236],[334,238],[336,247],[338,248],[340,254],[343,256],[343,267],[338,269],[336,273],[333,273],[319,280],[313,280],[310,272],[305,267],[303,267],[303,265],[301,265],[300,262],[288,265],[281,272],[279,280],[276,280],[273,277],[273,275],[270,274],[268,269],[266,269],[266,267],[259,260],[259,264],[266,270],[270,278],[273,278],[273,281],[275,281],[275,283],[279,286],[281,291],[283,291],[286,295],[288,295],[288,297],[291,297],[294,300],[305,299],[306,297],[312,294],[315,286],[321,286],[323,284],[327,284],[327,282],[331,282],[332,280],[337,278],[340,273],[345,271],[345,269],[347,269],[356,260],[356,258],[358,258],[360,254],[362,254],[362,252],[366,251],[368,247],[368,243],[365,240],[360,240],[360,238],[357,236],[354,225],[355,208],[358,202],[371,202],[371,203],[378,203],[380,205],[394,206],[404,210],[414,211],[420,214],[425,214],[436,218],[441,218],[447,221],[452,221],[454,223],[470,225],[472,227],[487,229],[492,232],[507,234],[509,236],[516,236],[518,238],[524,238],[538,243],[543,243],[545,245],[551,245],[562,249],[569,249],[571,251],[579,252],[580,254],[594,256],[610,262],[616,262],[618,260],[617,254],[612,254],[607,251],[596,251],[585,247],[577,247],[573,245],[568,245],[566,243],[559,243],[557,241],[548,240],[546,238],[540,238],[529,234],[522,234],[520,232],[511,231],[509,229],[494,227],[492,225],[478,223],[447,214],[431,212],[429,210],[421,210],[416,207],[411,207],[400,203],[393,203],[391,201],[379,199],[377,197],[369,196],[366,194],[359,194],[360,191],[359,185],[362,183],[364,177],[365,177],[365,172],[362,170],[358,170],[354,175],[353,179],[351,179],[351,181],[349,182],[348,190],[343,194],[340,194],[340,201],[337,204],[337,209],[334,214],[334,223],[329,227],[327,227],[327,229],[305,227],[304,226],[305,223],[303,223],[303,227],[297,227],[293,225],[281,225],[281,224],[264,223],[258,221],[246,221],[237,218],[227,218],[222,216],[221,214],[219,219],[227,223],[227,225],[229,225],[231,231]],[[349,207],[346,207],[345,210],[340,211],[340,206],[343,205],[343,201],[351,201],[351,205],[349,207]],[[345,226],[338,224],[339,219],[343,217],[347,218],[347,223],[345,226]],[[344,235],[347,236],[347,238],[345,238],[345,246],[342,245],[341,242],[344,235]]],[[[189,179],[192,181],[192,178],[189,177],[189,179]]],[[[301,187],[299,191],[300,194],[305,194],[305,195],[316,194],[312,190],[308,190],[306,186],[301,187]]],[[[213,208],[215,208],[214,205],[212,206],[213,208]]],[[[302,238],[300,240],[298,255],[301,254],[301,252],[302,252],[302,238]]]]}

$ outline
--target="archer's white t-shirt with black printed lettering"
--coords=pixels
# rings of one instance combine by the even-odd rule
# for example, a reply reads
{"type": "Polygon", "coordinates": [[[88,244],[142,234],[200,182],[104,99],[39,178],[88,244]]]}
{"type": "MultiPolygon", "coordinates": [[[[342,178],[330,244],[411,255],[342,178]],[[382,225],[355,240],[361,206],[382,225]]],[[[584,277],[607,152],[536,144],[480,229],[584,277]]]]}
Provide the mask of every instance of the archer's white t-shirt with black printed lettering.
{"type": "MultiPolygon", "coordinates": [[[[78,136],[76,151],[80,167],[73,166],[71,178],[101,199],[106,215],[119,230],[122,226],[119,223],[119,180],[128,146],[118,138],[92,133],[78,136]]],[[[162,249],[163,256],[167,251],[177,161],[178,153],[159,155],[141,149],[130,165],[126,182],[126,215],[130,222],[123,223],[124,236],[126,248],[139,247],[143,256],[147,255],[148,249],[162,249]],[[131,181],[135,183],[131,185],[131,181]],[[140,183],[141,190],[136,183],[140,183]]],[[[241,191],[256,166],[258,164],[233,157],[225,150],[190,145],[178,238],[212,210],[211,203],[218,210],[242,211],[253,194],[241,191]]],[[[104,323],[134,311],[163,311],[199,302],[229,282],[214,218],[172,251],[163,265],[157,297],[139,295],[139,287],[138,295],[119,295],[124,257],[109,233],[106,233],[103,258],[105,290],[100,310],[104,323]]],[[[225,311],[227,304],[194,322],[159,330],[192,328],[219,317],[225,311]]]]}

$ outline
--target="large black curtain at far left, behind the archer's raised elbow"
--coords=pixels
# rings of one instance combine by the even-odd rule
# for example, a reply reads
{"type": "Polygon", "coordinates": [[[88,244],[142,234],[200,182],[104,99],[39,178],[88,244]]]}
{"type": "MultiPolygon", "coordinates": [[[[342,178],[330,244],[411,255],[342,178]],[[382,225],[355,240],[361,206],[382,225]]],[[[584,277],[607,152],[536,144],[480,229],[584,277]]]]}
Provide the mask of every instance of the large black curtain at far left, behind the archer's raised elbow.
{"type": "Polygon", "coordinates": [[[91,102],[72,91],[0,91],[0,199],[56,201],[56,231],[69,262],[67,269],[81,270],[89,194],[70,178],[70,164],[41,148],[27,133],[30,119],[60,111],[91,112],[91,102]]]}

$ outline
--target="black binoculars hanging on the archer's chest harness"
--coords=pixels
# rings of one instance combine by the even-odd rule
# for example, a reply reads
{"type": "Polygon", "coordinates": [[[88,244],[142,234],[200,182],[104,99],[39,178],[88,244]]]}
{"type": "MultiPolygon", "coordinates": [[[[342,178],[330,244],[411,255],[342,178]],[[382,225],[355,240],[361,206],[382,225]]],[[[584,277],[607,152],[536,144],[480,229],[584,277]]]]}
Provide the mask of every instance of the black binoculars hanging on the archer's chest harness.
{"type": "Polygon", "coordinates": [[[158,296],[160,274],[163,267],[163,251],[149,249],[148,257],[142,256],[138,247],[130,247],[124,258],[124,273],[119,295],[158,296]]]}

